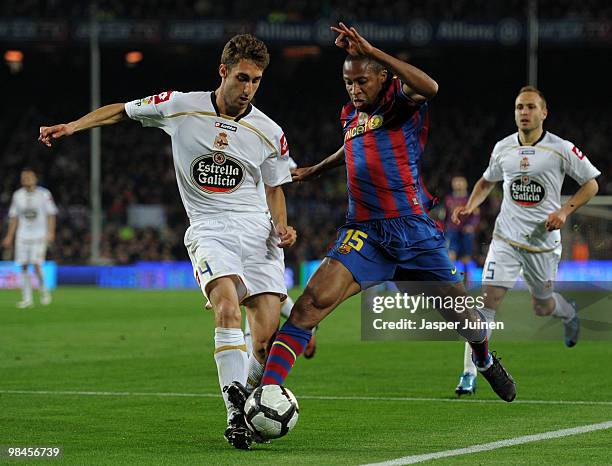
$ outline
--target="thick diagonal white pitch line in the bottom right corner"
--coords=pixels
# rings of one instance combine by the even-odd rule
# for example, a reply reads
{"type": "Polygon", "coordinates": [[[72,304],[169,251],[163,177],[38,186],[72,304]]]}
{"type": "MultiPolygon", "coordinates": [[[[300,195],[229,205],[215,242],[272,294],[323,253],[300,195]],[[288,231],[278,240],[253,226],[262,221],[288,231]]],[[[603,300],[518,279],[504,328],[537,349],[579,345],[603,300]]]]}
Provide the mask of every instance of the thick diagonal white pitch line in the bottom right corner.
{"type": "Polygon", "coordinates": [[[403,458],[383,461],[381,463],[369,463],[363,466],[403,466],[405,464],[422,463],[424,461],[449,458],[451,456],[468,455],[470,453],[497,450],[498,448],[513,447],[515,445],[522,445],[524,443],[539,442],[540,440],[569,437],[570,435],[586,434],[587,432],[595,432],[597,430],[605,430],[610,428],[612,428],[612,421],[600,422],[599,424],[588,424],[585,426],[572,427],[571,429],[552,430],[549,432],[542,432],[540,434],[524,435],[522,437],[509,438],[507,440],[500,440],[498,442],[483,443],[467,448],[458,448],[456,450],[438,451],[424,455],[404,456],[403,458]]]}

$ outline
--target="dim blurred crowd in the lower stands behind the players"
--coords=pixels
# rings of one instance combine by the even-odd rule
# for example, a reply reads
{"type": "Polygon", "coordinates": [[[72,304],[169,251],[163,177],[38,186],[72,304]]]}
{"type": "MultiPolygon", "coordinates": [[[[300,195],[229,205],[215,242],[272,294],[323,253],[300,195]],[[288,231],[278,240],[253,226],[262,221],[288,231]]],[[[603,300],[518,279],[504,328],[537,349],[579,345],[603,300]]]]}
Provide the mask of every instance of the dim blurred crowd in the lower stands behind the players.
{"type": "MultiPolygon", "coordinates": [[[[321,160],[341,142],[334,120],[336,108],[319,106],[307,113],[310,125],[305,124],[303,114],[291,112],[288,107],[283,109],[280,103],[277,112],[292,154],[300,165],[321,160]]],[[[428,188],[441,198],[448,193],[453,174],[465,175],[471,184],[480,177],[490,150],[483,147],[483,141],[492,145],[513,131],[507,114],[484,113],[478,108],[466,110],[459,106],[436,111],[432,106],[431,134],[423,169],[428,188]],[[503,122],[499,121],[500,117],[503,122]],[[476,119],[479,124],[474,126],[472,122],[476,119]]],[[[62,263],[84,263],[90,253],[89,139],[86,135],[68,138],[56,150],[49,151],[35,144],[32,134],[32,128],[40,123],[40,115],[35,107],[24,112],[5,141],[0,159],[4,180],[0,216],[6,217],[10,195],[18,187],[19,171],[24,160],[29,161],[40,172],[41,182],[51,189],[60,208],[52,257],[62,263]]],[[[576,109],[551,115],[548,127],[581,143],[603,173],[599,180],[600,193],[612,193],[612,164],[607,158],[612,147],[606,137],[612,134],[612,122],[598,118],[598,112],[576,109]],[[572,124],[575,121],[582,124],[572,124]]],[[[137,260],[186,259],[183,233],[187,219],[176,188],[169,138],[161,131],[143,130],[132,122],[104,130],[102,141],[103,260],[125,264],[137,260]],[[128,226],[127,209],[131,204],[162,204],[167,226],[160,229],[128,226]]],[[[335,237],[335,228],[343,221],[346,209],[343,169],[324,176],[320,182],[287,186],[286,195],[289,218],[299,232],[298,243],[286,252],[288,262],[297,264],[304,259],[321,257],[335,237]]],[[[486,252],[483,245],[490,240],[500,200],[499,195],[493,195],[483,206],[477,258],[486,252]]],[[[433,215],[442,214],[434,211],[433,215]]]]}

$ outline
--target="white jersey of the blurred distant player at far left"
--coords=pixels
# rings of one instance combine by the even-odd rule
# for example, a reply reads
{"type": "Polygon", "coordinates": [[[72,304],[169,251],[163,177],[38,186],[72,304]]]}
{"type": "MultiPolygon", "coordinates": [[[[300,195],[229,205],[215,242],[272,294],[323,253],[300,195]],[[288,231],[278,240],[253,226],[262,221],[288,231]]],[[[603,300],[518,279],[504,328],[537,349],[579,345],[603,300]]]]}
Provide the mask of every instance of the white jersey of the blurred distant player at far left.
{"type": "Polygon", "coordinates": [[[48,219],[57,207],[48,189],[37,186],[32,192],[20,188],[13,194],[9,217],[17,217],[17,241],[42,241],[47,237],[48,219]]]}

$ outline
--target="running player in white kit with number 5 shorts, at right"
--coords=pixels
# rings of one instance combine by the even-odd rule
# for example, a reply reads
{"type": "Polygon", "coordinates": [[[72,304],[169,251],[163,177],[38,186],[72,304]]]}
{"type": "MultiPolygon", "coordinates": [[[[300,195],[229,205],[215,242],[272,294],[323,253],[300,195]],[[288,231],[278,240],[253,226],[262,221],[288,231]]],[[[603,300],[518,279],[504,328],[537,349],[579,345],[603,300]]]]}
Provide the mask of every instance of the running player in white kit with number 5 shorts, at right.
{"type": "MultiPolygon", "coordinates": [[[[600,172],[574,144],[544,130],[547,113],[546,100],[538,89],[526,86],[519,91],[514,107],[518,132],[495,145],[489,166],[467,204],[455,208],[453,221],[459,224],[487,198],[496,182],[503,181],[501,210],[483,269],[482,313],[493,322],[504,295],[522,273],[534,312],[562,319],[565,344],[572,347],[580,330],[575,303],[553,288],[561,258],[560,228],[571,213],[597,194],[595,178],[600,172]],[[580,189],[561,205],[566,174],[580,189]]],[[[464,372],[455,393],[472,394],[475,389],[476,369],[466,346],[464,372]]]]}

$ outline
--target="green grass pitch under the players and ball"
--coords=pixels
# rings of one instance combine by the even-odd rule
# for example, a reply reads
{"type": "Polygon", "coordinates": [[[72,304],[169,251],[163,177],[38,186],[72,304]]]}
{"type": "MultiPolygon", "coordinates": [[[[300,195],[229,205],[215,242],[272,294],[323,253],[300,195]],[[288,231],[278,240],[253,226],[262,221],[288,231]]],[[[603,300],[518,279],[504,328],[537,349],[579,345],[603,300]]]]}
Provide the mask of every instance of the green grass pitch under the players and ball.
{"type": "MultiPolygon", "coordinates": [[[[18,299],[0,292],[0,445],[61,445],[56,463],[352,465],[612,420],[609,340],[567,349],[560,337],[493,338],[517,402],[495,401],[483,379],[474,398],[456,401],[461,343],[362,342],[353,298],[324,321],[316,357],[289,376],[295,430],[238,451],[222,435],[213,318],[197,291],[60,288],[49,307],[25,311],[18,299]]],[[[528,306],[519,293],[503,309],[527,319],[528,306]]],[[[431,461],[611,462],[612,429],[431,461]]]]}

